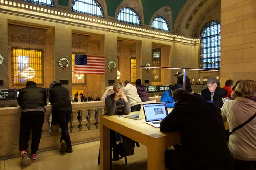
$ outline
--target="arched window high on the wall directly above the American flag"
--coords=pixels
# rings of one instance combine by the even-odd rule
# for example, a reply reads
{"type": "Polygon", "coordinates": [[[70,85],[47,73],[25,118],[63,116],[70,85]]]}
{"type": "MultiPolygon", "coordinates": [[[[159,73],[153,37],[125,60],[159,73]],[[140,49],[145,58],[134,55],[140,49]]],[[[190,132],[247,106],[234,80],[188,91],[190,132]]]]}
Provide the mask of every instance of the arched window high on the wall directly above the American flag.
{"type": "Polygon", "coordinates": [[[102,18],[104,17],[102,7],[96,0],[73,0],[71,11],[102,18]]]}

